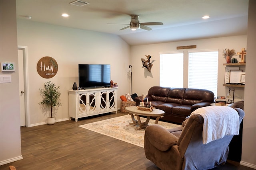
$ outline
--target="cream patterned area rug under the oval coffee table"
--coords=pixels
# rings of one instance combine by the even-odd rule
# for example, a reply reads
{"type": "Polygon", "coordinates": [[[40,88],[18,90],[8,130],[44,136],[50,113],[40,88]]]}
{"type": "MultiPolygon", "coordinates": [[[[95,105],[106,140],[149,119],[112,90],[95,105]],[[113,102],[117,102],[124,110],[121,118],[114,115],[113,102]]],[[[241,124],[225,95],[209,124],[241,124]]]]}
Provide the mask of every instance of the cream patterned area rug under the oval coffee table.
{"type": "MultiPolygon", "coordinates": [[[[141,117],[141,121],[145,122],[146,118],[141,117]]],[[[150,119],[149,125],[154,124],[155,120],[150,119]]],[[[120,117],[115,117],[112,119],[106,119],[103,121],[97,121],[94,123],[88,123],[85,125],[80,125],[84,129],[88,129],[90,131],[94,131],[103,135],[107,135],[121,141],[125,141],[131,143],[133,145],[137,145],[139,147],[144,147],[144,129],[136,131],[136,127],[133,125],[129,125],[132,123],[132,119],[130,115],[124,115],[120,117]]],[[[180,125],[167,123],[163,121],[158,121],[158,125],[166,129],[179,127],[180,125]]]]}

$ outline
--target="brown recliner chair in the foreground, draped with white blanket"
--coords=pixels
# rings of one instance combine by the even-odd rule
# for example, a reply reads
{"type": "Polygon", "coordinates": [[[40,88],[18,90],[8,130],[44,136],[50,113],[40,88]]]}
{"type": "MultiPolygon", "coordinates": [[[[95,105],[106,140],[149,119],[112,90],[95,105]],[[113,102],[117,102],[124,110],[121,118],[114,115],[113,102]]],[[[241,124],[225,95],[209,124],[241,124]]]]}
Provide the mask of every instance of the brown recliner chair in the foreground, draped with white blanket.
{"type": "MultiPolygon", "coordinates": [[[[240,108],[235,110],[241,123],[244,111],[240,108]]],[[[194,114],[175,129],[148,126],[144,136],[146,158],[161,170],[208,170],[224,164],[233,135],[203,144],[203,123],[203,117],[194,114]]]]}

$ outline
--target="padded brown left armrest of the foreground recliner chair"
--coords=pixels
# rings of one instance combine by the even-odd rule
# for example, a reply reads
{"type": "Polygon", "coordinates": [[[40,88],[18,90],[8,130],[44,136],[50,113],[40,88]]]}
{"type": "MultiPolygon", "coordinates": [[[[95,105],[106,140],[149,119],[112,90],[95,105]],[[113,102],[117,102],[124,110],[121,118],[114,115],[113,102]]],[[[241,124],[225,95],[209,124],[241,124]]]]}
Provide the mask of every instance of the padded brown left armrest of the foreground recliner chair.
{"type": "Polygon", "coordinates": [[[146,137],[154,147],[161,151],[168,150],[172,145],[176,145],[178,141],[178,137],[174,136],[160,125],[150,125],[146,127],[145,138],[146,137]]]}

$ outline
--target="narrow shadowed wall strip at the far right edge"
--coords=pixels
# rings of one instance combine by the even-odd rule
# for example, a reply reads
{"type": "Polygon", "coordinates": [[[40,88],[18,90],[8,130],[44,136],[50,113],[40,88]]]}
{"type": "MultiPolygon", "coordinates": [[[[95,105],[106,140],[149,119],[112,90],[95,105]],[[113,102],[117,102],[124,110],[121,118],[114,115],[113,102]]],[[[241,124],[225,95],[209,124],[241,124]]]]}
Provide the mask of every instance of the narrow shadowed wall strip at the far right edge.
{"type": "Polygon", "coordinates": [[[256,1],[249,1],[242,162],[256,169],[256,1]]]}

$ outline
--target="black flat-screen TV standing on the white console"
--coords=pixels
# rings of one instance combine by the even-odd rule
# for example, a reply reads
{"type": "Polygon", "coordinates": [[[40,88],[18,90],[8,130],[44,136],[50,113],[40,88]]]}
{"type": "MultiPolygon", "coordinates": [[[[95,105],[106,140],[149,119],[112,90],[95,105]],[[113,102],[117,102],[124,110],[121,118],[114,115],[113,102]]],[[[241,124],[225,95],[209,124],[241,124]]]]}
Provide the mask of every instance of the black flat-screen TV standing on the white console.
{"type": "Polygon", "coordinates": [[[78,72],[80,89],[110,86],[110,64],[78,64],[78,72]]]}

